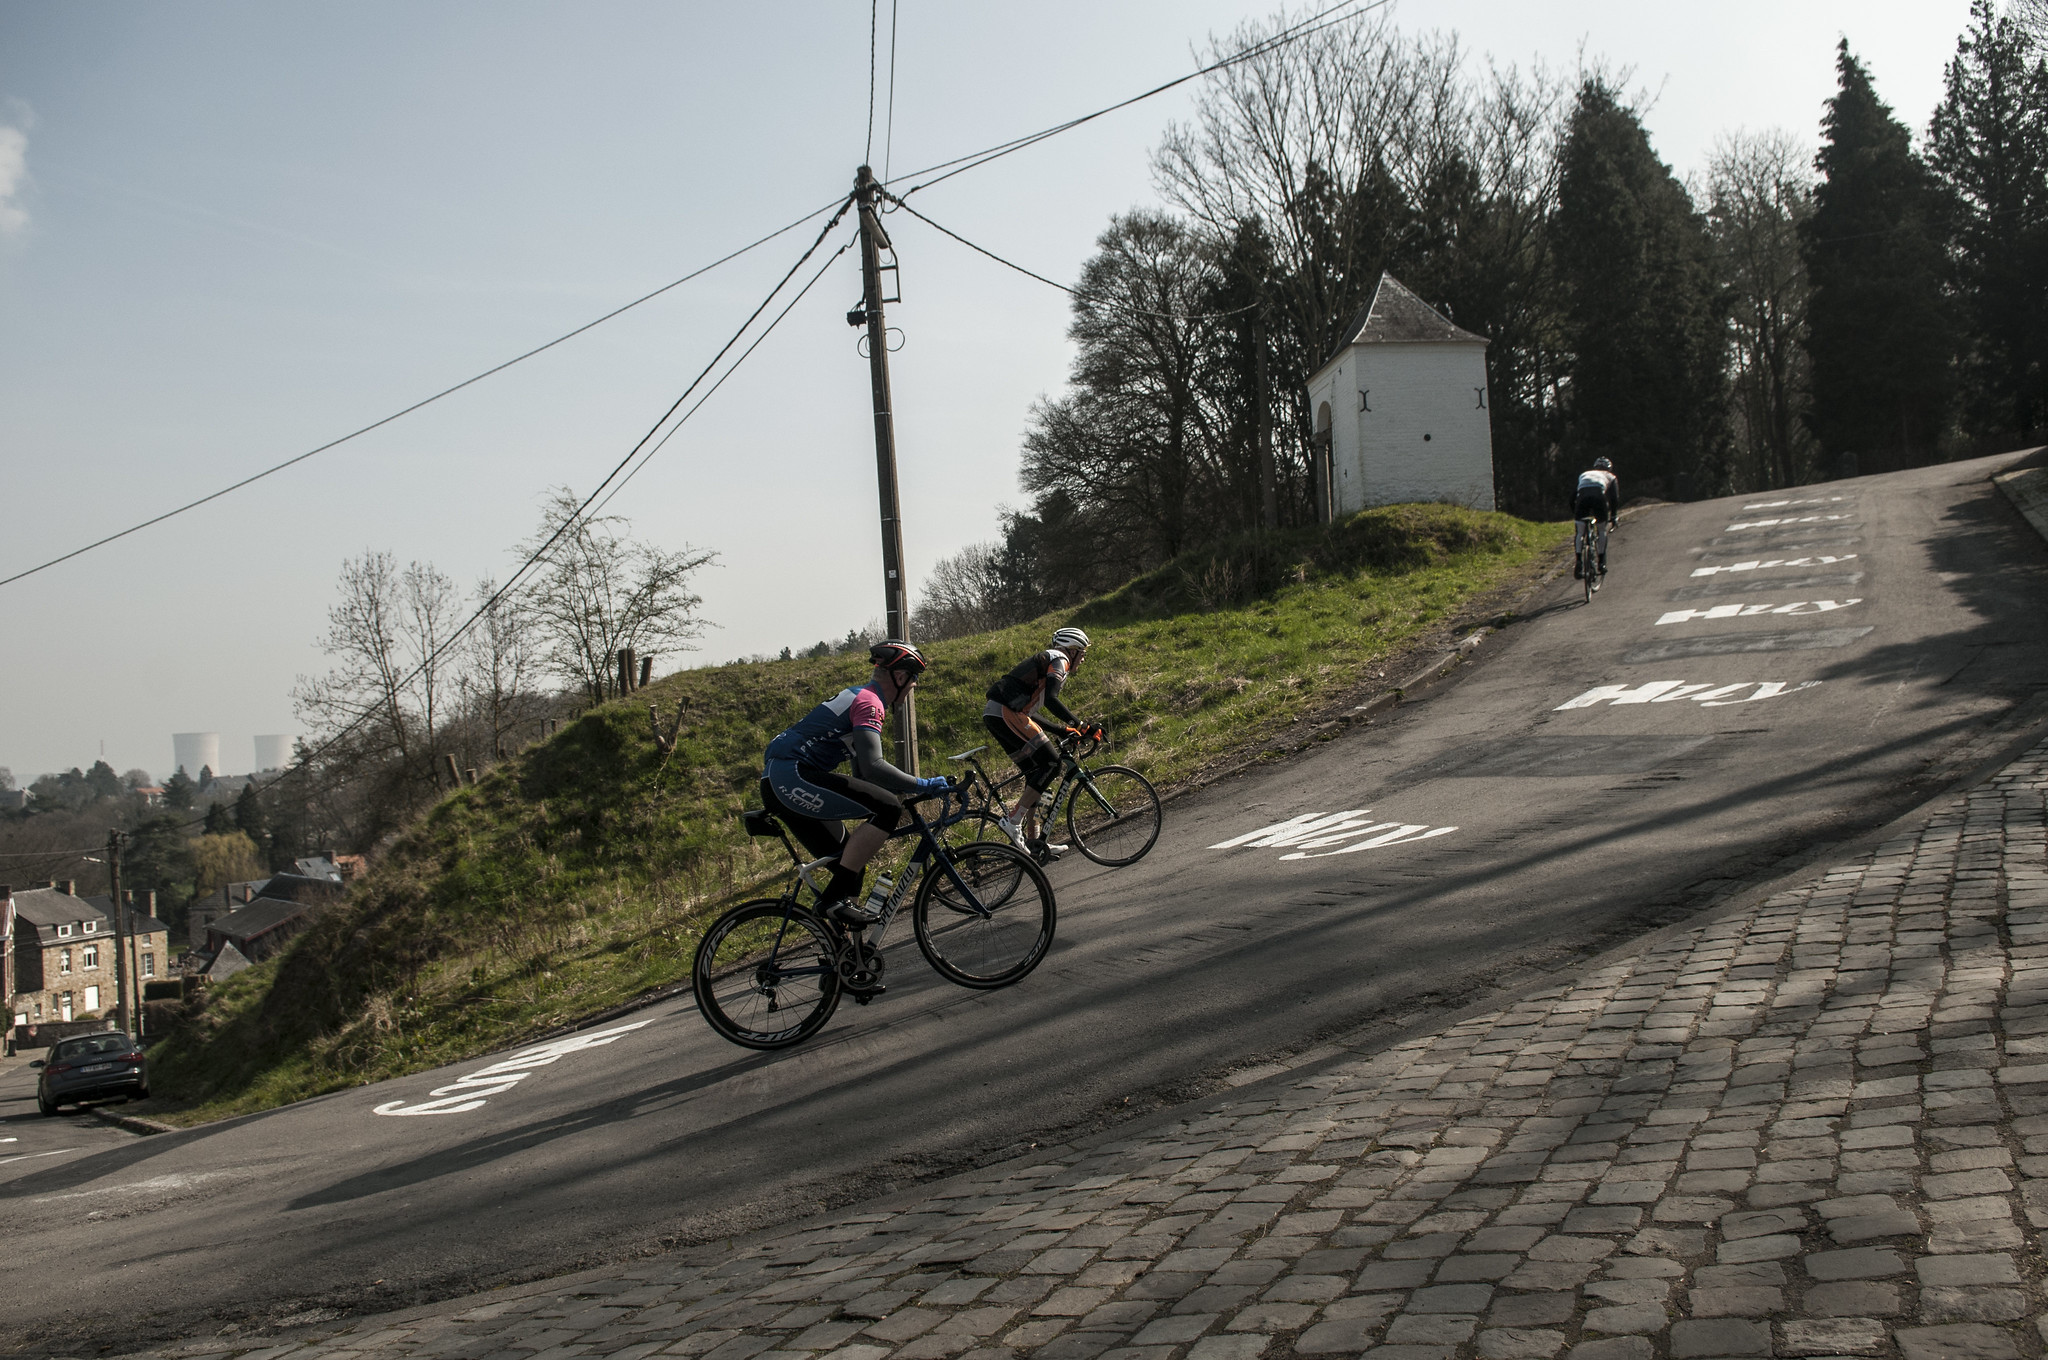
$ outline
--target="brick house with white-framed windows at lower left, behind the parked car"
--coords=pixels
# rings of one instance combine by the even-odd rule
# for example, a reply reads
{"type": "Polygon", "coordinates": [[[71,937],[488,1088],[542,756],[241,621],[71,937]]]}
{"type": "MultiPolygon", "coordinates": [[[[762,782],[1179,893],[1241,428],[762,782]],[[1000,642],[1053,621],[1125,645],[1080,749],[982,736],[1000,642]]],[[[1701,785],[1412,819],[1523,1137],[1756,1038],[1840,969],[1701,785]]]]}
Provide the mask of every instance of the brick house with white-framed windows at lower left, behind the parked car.
{"type": "MultiPolygon", "coordinates": [[[[10,893],[8,1014],[16,1026],[82,1020],[117,1004],[111,899],[78,897],[72,883],[10,893]]],[[[137,977],[166,975],[170,932],[164,922],[131,918],[137,977]]]]}

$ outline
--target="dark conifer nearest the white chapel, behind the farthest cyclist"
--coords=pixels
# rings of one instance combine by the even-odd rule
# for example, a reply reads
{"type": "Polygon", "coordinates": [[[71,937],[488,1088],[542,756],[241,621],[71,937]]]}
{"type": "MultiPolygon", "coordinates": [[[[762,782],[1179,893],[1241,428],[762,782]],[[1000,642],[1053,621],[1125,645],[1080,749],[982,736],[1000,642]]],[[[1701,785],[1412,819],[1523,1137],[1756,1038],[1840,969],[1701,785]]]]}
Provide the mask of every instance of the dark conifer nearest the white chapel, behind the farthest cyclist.
{"type": "Polygon", "coordinates": [[[1614,90],[1587,80],[1565,135],[1552,244],[1573,367],[1567,440],[1626,485],[1712,494],[1726,451],[1724,307],[1706,221],[1614,90]]]}

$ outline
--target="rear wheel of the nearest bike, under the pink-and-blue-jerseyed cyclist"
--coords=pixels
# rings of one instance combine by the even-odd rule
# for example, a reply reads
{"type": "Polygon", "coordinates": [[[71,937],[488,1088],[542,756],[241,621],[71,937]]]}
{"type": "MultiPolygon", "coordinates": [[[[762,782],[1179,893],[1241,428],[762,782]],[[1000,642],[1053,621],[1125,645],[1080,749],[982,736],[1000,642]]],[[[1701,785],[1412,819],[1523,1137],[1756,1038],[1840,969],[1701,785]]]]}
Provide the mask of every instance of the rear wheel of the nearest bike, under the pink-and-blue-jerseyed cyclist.
{"type": "Polygon", "coordinates": [[[788,1049],[840,1004],[831,932],[788,901],[748,901],[711,924],[696,946],[696,1010],[743,1049],[788,1049]]]}

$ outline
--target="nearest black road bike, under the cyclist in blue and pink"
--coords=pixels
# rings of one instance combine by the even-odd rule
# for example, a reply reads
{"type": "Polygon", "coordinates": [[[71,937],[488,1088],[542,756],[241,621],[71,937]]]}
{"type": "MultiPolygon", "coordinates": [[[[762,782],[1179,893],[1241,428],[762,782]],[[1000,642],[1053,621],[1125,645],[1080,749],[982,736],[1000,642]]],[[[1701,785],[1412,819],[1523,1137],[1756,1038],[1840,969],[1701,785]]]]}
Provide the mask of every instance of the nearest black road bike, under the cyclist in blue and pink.
{"type": "Polygon", "coordinates": [[[825,1026],[842,995],[866,1006],[887,991],[883,936],[909,901],[918,952],[940,977],[961,987],[1008,987],[1026,977],[1053,946],[1053,887],[1028,854],[1008,842],[944,844],[940,832],[965,813],[926,821],[905,797],[915,838],[866,928],[842,926],[815,911],[821,881],[813,873],[831,860],[805,862],[776,813],[741,813],[748,836],[780,836],[797,877],[780,897],[745,901],[711,924],[696,946],[690,985],[696,1010],[721,1036],[745,1049],[788,1049],[825,1026]],[[799,901],[809,891],[809,905],[799,901]]]}

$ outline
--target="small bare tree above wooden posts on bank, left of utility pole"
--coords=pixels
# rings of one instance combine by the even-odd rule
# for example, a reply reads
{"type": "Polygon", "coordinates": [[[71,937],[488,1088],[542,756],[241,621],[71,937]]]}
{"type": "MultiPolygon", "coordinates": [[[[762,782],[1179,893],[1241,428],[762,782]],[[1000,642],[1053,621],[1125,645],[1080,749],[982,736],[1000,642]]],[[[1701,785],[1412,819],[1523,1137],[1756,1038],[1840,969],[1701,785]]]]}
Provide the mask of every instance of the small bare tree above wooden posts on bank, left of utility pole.
{"type": "Polygon", "coordinates": [[[541,528],[524,545],[547,549],[520,608],[530,621],[541,666],[600,703],[614,686],[621,647],[641,655],[692,649],[705,631],[702,598],[690,576],[717,553],[680,553],[627,537],[618,516],[578,516],[575,494],[559,487],[541,510],[541,528]],[[557,530],[559,537],[557,537],[557,530]]]}

